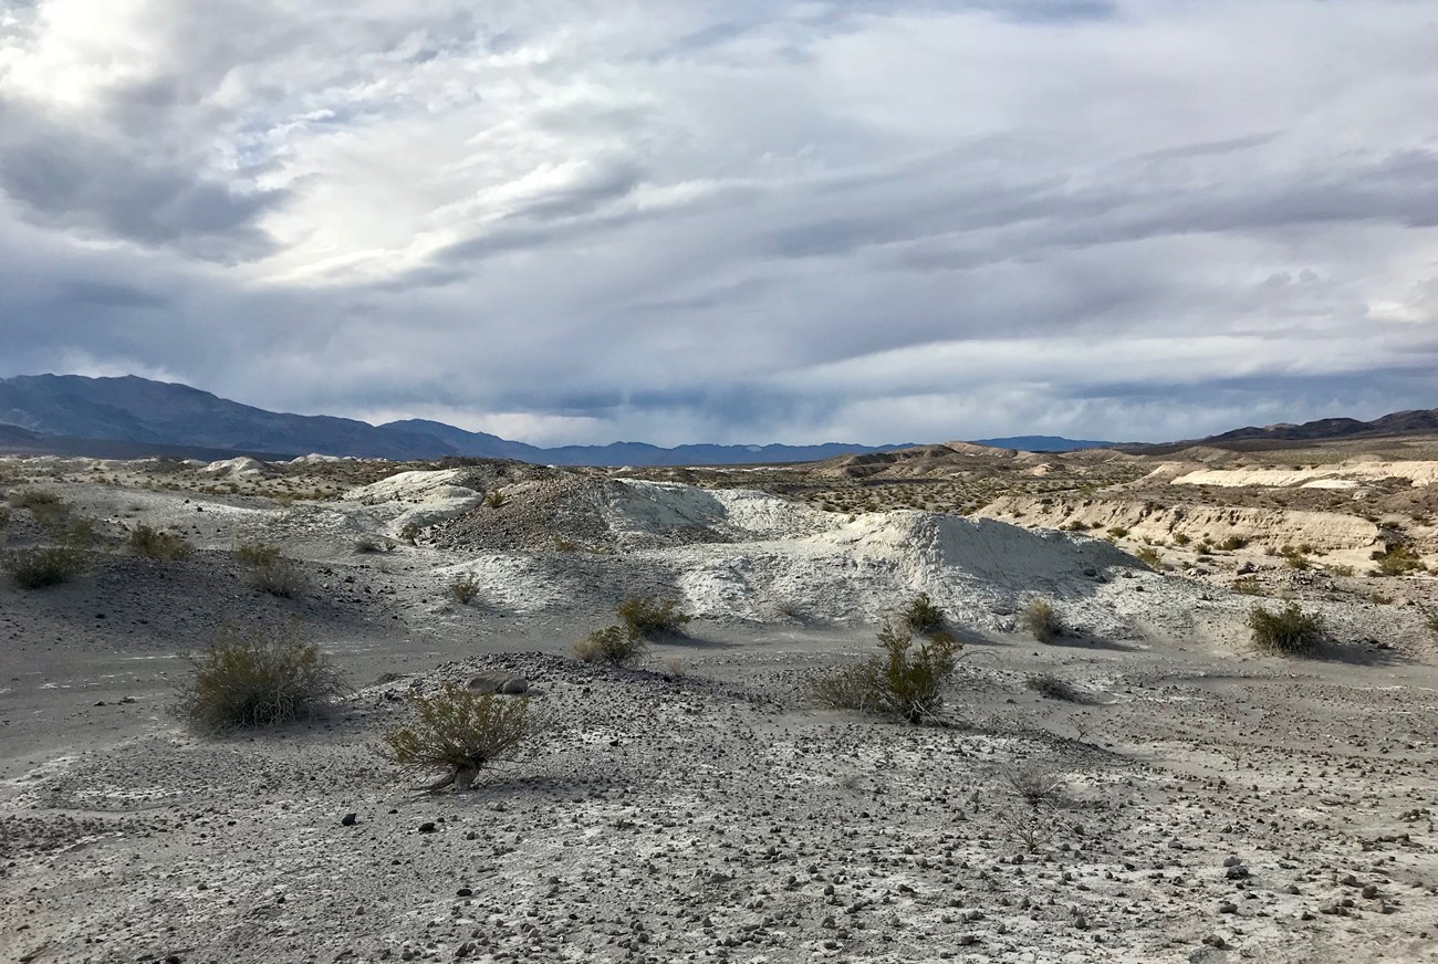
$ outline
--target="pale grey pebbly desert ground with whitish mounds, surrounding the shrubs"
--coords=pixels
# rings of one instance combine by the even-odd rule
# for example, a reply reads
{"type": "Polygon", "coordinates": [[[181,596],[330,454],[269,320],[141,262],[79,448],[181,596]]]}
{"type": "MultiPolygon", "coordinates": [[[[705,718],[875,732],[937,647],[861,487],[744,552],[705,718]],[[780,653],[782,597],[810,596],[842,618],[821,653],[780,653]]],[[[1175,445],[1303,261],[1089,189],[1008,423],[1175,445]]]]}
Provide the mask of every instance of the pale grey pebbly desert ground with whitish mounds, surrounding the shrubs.
{"type": "Polygon", "coordinates": [[[1100,540],[680,490],[604,503],[603,550],[354,552],[416,511],[482,511],[456,481],[299,507],[46,483],[198,552],[0,586],[0,960],[1438,960],[1416,606],[1264,575],[1334,642],[1261,658],[1252,598],[1100,540]],[[306,593],[243,583],[229,549],[256,536],[302,559],[306,593]],[[466,572],[483,592],[460,606],[444,586],[466,572]],[[1028,583],[1083,632],[1018,635],[1028,583]],[[636,669],[567,658],[651,589],[700,615],[690,638],[636,669]],[[808,682],[920,589],[966,642],[951,726],[815,710],[808,682]],[[290,618],[357,687],[334,714],[219,740],[168,715],[180,654],[221,619],[290,618]],[[542,734],[470,793],[416,793],[374,753],[401,695],[490,671],[531,681],[542,734]],[[1081,698],[1038,695],[1037,672],[1081,698]],[[1054,774],[1055,806],[1022,802],[1024,767],[1054,774]]]}

